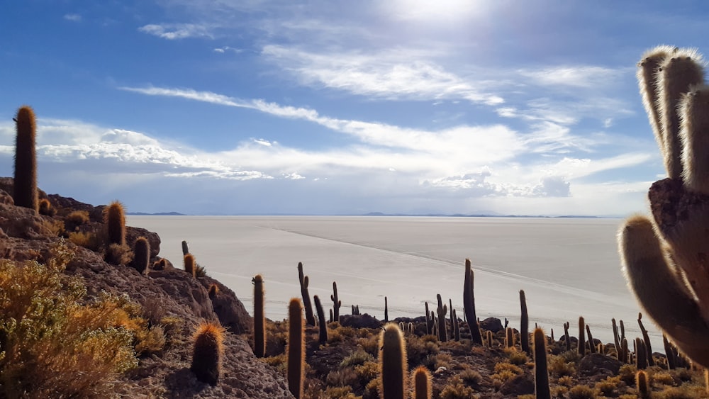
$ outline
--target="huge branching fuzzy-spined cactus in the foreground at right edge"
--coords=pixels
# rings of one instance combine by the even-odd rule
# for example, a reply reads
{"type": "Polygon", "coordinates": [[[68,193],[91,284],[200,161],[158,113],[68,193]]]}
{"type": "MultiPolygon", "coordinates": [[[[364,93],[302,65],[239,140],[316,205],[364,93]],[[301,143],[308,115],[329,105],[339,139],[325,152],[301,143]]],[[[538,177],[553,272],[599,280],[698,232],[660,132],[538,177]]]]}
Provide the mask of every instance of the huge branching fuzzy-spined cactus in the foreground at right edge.
{"type": "Polygon", "coordinates": [[[709,86],[695,50],[656,47],[638,79],[668,178],[649,189],[652,220],[625,221],[618,245],[645,313],[709,367],[709,86]]]}

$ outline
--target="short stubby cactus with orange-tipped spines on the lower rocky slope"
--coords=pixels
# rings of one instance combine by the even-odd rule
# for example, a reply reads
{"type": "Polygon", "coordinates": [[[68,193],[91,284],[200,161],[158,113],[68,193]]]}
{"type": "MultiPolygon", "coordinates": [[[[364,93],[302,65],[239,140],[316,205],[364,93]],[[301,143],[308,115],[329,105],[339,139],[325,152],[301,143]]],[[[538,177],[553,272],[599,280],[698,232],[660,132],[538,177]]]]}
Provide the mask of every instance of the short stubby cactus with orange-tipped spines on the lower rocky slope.
{"type": "Polygon", "coordinates": [[[199,381],[216,385],[224,352],[224,328],[218,322],[202,322],[194,333],[190,370],[199,381]]]}

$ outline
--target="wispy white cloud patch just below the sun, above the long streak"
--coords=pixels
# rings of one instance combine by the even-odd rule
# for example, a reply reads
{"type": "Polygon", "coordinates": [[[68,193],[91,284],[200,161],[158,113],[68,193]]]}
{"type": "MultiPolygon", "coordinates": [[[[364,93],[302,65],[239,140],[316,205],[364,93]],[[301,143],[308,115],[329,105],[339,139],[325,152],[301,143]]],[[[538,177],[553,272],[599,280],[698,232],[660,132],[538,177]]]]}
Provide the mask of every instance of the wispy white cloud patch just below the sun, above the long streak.
{"type": "Polygon", "coordinates": [[[464,99],[498,105],[504,100],[481,91],[476,82],[425,61],[420,50],[388,49],[375,54],[316,54],[292,47],[267,45],[262,54],[296,75],[303,84],[321,85],[381,99],[464,99]]]}

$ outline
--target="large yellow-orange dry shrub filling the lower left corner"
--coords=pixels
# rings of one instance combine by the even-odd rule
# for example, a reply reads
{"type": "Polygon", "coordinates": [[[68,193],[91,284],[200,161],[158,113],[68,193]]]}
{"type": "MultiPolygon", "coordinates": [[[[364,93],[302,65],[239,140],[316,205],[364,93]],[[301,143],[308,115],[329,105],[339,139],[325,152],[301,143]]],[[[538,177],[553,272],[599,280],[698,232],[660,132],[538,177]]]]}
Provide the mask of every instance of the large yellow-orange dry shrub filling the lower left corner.
{"type": "Polygon", "coordinates": [[[138,364],[133,334],[114,324],[112,298],[83,305],[86,288],[62,272],[65,245],[46,265],[0,260],[0,397],[106,397],[138,364]]]}

